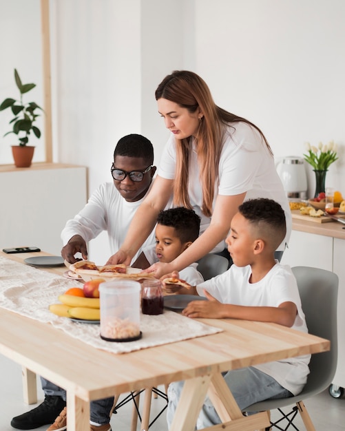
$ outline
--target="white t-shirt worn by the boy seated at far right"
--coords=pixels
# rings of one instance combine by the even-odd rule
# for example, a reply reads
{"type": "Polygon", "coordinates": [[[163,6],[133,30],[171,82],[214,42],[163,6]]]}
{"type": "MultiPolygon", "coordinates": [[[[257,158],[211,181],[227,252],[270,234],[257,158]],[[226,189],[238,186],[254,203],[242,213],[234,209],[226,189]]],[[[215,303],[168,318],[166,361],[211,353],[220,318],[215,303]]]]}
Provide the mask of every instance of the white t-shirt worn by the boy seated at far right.
{"type": "MultiPolygon", "coordinates": [[[[197,286],[197,291],[200,296],[205,296],[205,289],[223,304],[278,307],[283,302],[293,302],[297,306],[297,315],[291,328],[308,332],[297,282],[289,266],[277,262],[257,283],[249,283],[250,276],[251,266],[239,268],[233,264],[226,272],[197,286]]],[[[255,365],[255,368],[297,395],[306,383],[310,358],[311,355],[303,355],[255,365]]]]}

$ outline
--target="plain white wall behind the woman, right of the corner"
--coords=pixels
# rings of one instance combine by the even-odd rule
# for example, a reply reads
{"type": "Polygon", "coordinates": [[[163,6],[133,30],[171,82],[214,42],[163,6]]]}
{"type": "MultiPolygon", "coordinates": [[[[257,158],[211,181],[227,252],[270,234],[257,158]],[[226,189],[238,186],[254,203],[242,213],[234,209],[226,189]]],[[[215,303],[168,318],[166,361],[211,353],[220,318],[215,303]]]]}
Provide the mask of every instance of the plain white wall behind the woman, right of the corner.
{"type": "Polygon", "coordinates": [[[342,160],[326,185],[345,195],[345,2],[198,0],[196,8],[196,70],[216,103],[257,124],[275,156],[334,139],[342,160]]]}

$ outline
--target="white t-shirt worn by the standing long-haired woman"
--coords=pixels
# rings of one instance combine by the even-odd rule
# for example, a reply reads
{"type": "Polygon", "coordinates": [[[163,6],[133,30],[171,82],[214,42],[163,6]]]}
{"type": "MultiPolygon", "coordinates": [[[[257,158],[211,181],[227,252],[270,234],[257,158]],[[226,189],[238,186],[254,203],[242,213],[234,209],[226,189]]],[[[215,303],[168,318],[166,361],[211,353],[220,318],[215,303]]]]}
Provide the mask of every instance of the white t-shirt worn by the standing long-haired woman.
{"type": "MultiPolygon", "coordinates": [[[[202,190],[198,167],[198,154],[191,139],[189,144],[189,200],[194,211],[201,217],[200,234],[207,229],[211,219],[202,214],[202,190]]],[[[176,141],[173,134],[169,138],[163,151],[158,175],[172,180],[175,178],[176,141]]],[[[246,192],[244,200],[254,198],[269,198],[279,202],[286,216],[286,237],[278,247],[283,251],[285,243],[291,234],[291,211],[289,201],[282,186],[282,182],[275,170],[274,158],[262,140],[260,133],[247,123],[236,123],[227,127],[224,146],[220,155],[219,180],[215,186],[215,196],[233,196],[246,192]]],[[[224,242],[215,251],[224,249],[224,242]]]]}

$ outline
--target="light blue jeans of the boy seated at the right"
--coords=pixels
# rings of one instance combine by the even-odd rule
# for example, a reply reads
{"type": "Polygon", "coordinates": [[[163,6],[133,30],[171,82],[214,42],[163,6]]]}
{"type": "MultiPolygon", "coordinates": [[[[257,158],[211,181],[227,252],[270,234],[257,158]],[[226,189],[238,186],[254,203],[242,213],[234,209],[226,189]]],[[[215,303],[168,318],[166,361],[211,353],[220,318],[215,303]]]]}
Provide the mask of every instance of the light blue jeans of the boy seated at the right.
{"type": "MultiPolygon", "coordinates": [[[[253,403],[257,403],[258,401],[293,396],[289,390],[280,386],[273,377],[270,377],[264,372],[253,367],[230,370],[225,372],[223,377],[242,411],[245,411],[246,407],[251,406],[253,403]]],[[[169,384],[169,403],[167,408],[167,423],[169,428],[174,419],[183,383],[183,381],[176,381],[169,384]]],[[[196,423],[196,430],[202,430],[202,428],[217,425],[218,423],[221,423],[220,417],[218,416],[216,409],[213,407],[209,397],[206,397],[196,423]]]]}

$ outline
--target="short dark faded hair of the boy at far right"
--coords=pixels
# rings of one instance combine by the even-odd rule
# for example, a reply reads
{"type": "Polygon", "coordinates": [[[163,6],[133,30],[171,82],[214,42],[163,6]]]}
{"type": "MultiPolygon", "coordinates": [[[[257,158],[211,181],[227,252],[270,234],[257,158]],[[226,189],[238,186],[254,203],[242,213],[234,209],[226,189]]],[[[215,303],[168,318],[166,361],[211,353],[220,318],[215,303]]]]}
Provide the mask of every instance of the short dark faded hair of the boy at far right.
{"type": "Polygon", "coordinates": [[[286,218],[280,204],[272,199],[249,199],[238,207],[240,214],[258,231],[258,235],[277,249],[286,235],[286,218]]]}

